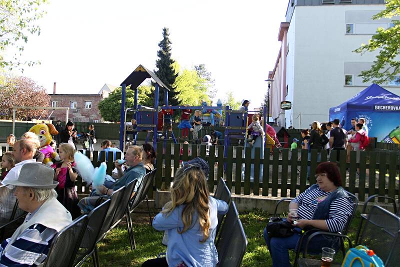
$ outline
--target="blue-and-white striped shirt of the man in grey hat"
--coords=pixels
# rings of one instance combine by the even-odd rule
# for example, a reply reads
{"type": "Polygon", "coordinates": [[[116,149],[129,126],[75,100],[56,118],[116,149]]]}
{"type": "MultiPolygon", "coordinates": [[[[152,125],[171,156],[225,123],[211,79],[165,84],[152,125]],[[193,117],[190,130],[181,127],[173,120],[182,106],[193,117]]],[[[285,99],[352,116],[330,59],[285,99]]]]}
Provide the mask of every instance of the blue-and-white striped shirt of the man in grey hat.
{"type": "Polygon", "coordinates": [[[0,246],[0,266],[38,266],[45,260],[51,241],[56,234],[55,229],[37,223],[25,229],[5,253],[3,249],[10,238],[4,240],[0,246]]]}

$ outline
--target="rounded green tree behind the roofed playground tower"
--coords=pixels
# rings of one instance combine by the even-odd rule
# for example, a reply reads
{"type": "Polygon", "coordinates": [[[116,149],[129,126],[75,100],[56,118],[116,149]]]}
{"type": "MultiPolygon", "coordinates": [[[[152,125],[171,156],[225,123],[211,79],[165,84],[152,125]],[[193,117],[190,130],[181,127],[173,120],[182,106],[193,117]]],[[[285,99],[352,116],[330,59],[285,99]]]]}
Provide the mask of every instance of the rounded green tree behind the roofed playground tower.
{"type": "MultiPolygon", "coordinates": [[[[153,106],[151,85],[139,85],[137,87],[137,104],[153,106]]],[[[117,122],[121,120],[122,88],[115,88],[108,97],[98,103],[98,110],[101,117],[106,121],[117,122]]],[[[130,86],[126,87],[125,107],[133,107],[134,91],[130,86]]]]}

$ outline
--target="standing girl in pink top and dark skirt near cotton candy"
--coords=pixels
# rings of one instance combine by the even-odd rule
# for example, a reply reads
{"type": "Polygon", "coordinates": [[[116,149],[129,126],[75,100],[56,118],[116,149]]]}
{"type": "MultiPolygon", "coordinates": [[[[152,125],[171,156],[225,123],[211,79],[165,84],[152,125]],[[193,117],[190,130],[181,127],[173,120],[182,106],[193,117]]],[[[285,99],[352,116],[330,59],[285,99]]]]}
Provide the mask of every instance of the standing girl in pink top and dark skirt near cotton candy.
{"type": "Polygon", "coordinates": [[[58,155],[62,162],[51,165],[55,169],[54,180],[58,181],[55,188],[57,200],[71,213],[72,219],[80,216],[80,209],[77,206],[78,195],[74,185],[78,176],[74,168],[74,153],[75,150],[71,145],[61,143],[58,147],[58,155]]]}

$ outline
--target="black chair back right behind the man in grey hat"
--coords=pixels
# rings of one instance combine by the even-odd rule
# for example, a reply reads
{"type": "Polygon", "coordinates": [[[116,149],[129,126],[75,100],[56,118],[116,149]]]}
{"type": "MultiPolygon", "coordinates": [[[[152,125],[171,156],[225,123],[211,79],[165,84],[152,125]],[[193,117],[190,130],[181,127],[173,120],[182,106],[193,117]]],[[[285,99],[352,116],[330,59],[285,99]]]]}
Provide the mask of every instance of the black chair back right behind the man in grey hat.
{"type": "Polygon", "coordinates": [[[43,267],[70,267],[87,224],[87,215],[82,215],[59,231],[53,238],[43,267]]]}

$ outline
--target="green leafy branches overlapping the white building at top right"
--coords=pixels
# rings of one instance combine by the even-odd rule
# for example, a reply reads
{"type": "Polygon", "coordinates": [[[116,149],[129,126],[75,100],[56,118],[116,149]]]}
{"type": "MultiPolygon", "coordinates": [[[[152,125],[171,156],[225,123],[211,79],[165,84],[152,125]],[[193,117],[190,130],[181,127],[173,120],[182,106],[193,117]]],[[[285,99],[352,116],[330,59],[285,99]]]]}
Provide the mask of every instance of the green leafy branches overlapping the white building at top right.
{"type": "MultiPolygon", "coordinates": [[[[398,15],[400,15],[400,0],[386,0],[386,8],[372,18],[391,18],[398,15]]],[[[400,60],[397,57],[400,52],[400,21],[393,19],[391,27],[378,28],[376,32],[368,44],[363,43],[354,51],[363,54],[380,48],[371,68],[361,71],[360,76],[363,77],[363,82],[371,80],[375,83],[386,83],[398,79],[396,74],[400,72],[400,60]]]]}

